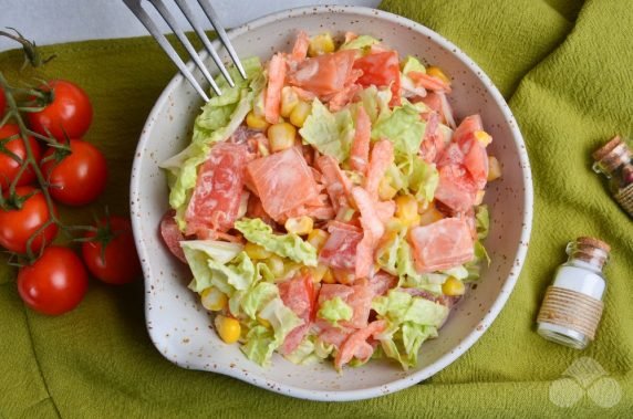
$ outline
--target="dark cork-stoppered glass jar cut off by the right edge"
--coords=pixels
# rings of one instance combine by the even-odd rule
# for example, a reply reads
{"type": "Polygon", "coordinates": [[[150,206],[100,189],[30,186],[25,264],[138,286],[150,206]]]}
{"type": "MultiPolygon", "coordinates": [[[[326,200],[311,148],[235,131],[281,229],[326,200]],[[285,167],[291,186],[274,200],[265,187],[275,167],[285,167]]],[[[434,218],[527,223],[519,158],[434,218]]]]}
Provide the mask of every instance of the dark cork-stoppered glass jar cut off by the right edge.
{"type": "Polygon", "coordinates": [[[593,170],[609,179],[611,193],[633,217],[633,153],[620,137],[615,137],[593,153],[593,170]]]}

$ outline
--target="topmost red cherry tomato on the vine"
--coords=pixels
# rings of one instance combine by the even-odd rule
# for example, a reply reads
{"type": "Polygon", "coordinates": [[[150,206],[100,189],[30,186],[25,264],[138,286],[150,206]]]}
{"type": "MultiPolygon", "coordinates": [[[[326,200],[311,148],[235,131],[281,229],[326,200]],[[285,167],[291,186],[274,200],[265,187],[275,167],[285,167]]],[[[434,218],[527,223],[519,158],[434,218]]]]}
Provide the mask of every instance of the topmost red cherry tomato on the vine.
{"type": "Polygon", "coordinates": [[[40,90],[50,92],[52,102],[40,112],[27,114],[31,128],[42,135],[48,135],[49,130],[60,142],[66,136],[83,137],[92,123],[87,94],[76,84],[63,80],[53,80],[40,90]]]}

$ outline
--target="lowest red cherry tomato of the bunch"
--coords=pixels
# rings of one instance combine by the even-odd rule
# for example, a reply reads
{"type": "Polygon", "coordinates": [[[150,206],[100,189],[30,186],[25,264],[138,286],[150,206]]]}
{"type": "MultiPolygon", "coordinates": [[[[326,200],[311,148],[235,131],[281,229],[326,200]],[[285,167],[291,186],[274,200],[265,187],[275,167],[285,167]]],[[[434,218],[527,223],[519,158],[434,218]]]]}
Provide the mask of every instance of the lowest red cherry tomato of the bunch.
{"type": "Polygon", "coordinates": [[[87,290],[87,273],[69,248],[51,245],[18,273],[18,292],[32,310],[59,315],[76,307],[87,290]]]}

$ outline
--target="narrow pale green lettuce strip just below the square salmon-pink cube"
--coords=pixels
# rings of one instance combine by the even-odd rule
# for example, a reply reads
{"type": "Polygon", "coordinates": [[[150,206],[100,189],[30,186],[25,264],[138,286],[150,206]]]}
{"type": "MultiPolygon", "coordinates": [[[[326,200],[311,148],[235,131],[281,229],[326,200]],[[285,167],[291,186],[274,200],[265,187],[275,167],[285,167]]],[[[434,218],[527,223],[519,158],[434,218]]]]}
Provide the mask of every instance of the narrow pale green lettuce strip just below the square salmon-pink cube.
{"type": "Polygon", "coordinates": [[[308,266],[316,266],[316,249],[297,234],[274,234],[270,226],[259,218],[236,221],[235,228],[248,241],[261,245],[269,252],[308,266]]]}

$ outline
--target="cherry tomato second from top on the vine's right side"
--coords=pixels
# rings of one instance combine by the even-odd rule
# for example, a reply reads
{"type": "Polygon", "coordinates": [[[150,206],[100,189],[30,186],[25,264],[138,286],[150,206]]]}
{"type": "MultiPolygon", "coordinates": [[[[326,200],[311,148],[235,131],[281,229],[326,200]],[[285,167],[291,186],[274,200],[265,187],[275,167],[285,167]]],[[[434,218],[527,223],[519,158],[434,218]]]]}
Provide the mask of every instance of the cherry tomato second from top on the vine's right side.
{"type": "MultiPolygon", "coordinates": [[[[50,159],[42,164],[42,172],[51,186],[49,192],[59,202],[83,206],[94,201],[105,189],[107,164],[103,154],[90,143],[70,140],[71,154],[59,164],[50,159]]],[[[51,156],[50,148],[42,160],[51,156]]]]}

